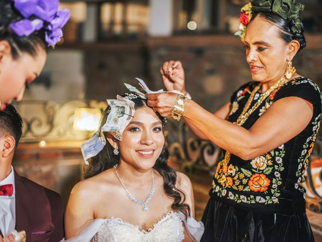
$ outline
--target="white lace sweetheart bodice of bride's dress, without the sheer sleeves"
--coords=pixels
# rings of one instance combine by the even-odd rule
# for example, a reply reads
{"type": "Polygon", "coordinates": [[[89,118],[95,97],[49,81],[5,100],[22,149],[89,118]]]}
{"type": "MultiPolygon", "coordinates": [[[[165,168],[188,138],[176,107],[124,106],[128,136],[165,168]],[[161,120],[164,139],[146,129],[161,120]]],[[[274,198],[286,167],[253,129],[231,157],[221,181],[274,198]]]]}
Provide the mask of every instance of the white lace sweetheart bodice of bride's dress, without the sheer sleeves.
{"type": "Polygon", "coordinates": [[[95,234],[95,242],[181,242],[184,228],[176,212],[169,212],[147,231],[120,218],[105,219],[95,234]]]}

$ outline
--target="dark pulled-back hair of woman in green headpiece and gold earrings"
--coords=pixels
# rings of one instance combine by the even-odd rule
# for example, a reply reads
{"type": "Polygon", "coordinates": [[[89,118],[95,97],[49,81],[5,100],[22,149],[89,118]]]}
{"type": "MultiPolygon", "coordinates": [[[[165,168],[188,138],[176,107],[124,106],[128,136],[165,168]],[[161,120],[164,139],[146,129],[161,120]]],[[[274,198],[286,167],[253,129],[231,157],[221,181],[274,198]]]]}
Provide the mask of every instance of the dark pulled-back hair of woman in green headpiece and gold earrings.
{"type": "Polygon", "coordinates": [[[268,13],[268,12],[256,13],[252,18],[252,20],[254,20],[256,16],[261,17],[267,20],[268,22],[274,24],[275,26],[277,26],[280,30],[279,35],[285,41],[286,44],[288,44],[292,40],[297,40],[300,43],[299,51],[306,46],[306,40],[304,37],[304,28],[302,23],[301,23],[301,28],[298,29],[295,33],[293,33],[291,31],[291,28],[295,23],[293,23],[292,21],[284,20],[280,16],[274,13],[268,13]]]}

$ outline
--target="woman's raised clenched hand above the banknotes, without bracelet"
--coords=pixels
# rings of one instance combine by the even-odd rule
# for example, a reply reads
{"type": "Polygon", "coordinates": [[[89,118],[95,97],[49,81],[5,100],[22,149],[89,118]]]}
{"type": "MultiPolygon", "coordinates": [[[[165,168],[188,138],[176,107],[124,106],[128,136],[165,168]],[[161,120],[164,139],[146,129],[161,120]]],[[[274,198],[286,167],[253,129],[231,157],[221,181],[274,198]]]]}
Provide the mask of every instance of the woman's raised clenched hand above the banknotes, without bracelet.
{"type": "Polygon", "coordinates": [[[160,73],[168,91],[179,90],[183,94],[187,94],[185,72],[180,61],[165,62],[160,68],[160,73]]]}

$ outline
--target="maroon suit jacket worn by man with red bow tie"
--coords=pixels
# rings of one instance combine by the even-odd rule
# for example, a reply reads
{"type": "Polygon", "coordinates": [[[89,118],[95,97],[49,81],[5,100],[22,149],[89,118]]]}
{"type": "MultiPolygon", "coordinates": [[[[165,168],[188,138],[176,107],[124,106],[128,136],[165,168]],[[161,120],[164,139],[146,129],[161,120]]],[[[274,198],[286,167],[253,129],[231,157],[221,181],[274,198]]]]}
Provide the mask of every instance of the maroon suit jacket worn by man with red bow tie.
{"type": "Polygon", "coordinates": [[[16,229],[26,231],[26,242],[60,241],[63,238],[60,195],[20,176],[16,171],[15,188],[16,229]]]}

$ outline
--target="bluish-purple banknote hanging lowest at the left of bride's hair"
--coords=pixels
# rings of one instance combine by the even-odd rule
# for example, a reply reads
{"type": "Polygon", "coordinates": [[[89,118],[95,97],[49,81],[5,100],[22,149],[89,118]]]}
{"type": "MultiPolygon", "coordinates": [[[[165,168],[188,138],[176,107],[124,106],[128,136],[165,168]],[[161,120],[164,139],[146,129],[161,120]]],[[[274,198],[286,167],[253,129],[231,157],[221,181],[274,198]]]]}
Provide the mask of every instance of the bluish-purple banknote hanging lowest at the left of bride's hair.
{"type": "Polygon", "coordinates": [[[105,145],[106,145],[106,139],[102,129],[97,131],[92,136],[91,139],[83,142],[81,146],[81,150],[82,150],[85,163],[88,165],[89,164],[88,159],[100,153],[100,151],[103,150],[105,145]]]}

